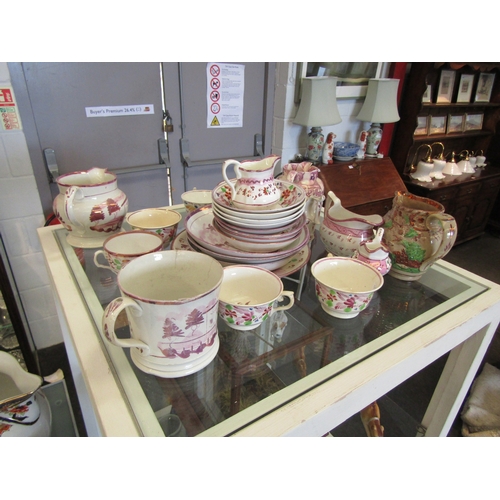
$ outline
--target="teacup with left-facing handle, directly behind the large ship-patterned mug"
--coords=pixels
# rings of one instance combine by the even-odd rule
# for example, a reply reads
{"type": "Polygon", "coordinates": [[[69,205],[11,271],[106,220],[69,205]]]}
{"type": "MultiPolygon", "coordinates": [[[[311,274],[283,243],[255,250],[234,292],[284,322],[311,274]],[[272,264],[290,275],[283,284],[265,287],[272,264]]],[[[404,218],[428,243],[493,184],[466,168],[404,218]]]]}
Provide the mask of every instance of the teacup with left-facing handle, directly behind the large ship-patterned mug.
{"type": "Polygon", "coordinates": [[[114,234],[104,241],[102,250],[94,254],[97,267],[111,269],[118,274],[130,261],[151,252],[159,252],[163,247],[163,238],[149,231],[126,231],[114,234]],[[98,261],[104,255],[108,265],[98,261]]]}

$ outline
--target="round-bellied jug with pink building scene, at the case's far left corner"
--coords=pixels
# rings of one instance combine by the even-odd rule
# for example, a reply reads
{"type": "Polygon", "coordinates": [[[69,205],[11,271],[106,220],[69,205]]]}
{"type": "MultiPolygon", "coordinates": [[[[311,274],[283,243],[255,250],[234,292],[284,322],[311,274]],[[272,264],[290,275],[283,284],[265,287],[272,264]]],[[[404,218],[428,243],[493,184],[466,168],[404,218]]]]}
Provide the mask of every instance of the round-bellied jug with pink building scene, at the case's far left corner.
{"type": "Polygon", "coordinates": [[[79,248],[101,247],[120,232],[128,199],[117,186],[116,175],[103,168],[64,174],[56,179],[59,194],[54,214],[68,230],[67,241],[79,248]]]}

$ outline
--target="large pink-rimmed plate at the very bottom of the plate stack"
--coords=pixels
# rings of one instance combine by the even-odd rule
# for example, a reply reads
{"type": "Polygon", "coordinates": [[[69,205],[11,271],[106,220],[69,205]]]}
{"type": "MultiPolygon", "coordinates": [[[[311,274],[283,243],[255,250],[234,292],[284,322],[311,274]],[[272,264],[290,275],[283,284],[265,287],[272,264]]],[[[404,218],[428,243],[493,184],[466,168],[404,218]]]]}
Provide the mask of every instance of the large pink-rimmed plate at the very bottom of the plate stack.
{"type": "Polygon", "coordinates": [[[231,239],[220,233],[213,225],[214,214],[211,209],[204,208],[190,213],[186,218],[186,231],[189,238],[197,245],[207,248],[218,255],[255,258],[258,259],[278,259],[287,257],[299,251],[309,241],[309,230],[304,226],[292,242],[280,250],[273,252],[245,252],[231,245],[231,239]]]}

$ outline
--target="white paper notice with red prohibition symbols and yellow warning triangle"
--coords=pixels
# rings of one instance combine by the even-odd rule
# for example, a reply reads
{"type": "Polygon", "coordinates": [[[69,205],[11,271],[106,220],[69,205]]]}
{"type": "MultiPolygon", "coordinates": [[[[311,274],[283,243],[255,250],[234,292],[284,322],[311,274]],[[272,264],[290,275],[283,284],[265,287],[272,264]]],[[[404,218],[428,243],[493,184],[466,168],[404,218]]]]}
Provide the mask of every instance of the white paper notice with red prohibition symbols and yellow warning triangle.
{"type": "Polygon", "coordinates": [[[245,66],[207,64],[207,128],[243,127],[245,66]]]}

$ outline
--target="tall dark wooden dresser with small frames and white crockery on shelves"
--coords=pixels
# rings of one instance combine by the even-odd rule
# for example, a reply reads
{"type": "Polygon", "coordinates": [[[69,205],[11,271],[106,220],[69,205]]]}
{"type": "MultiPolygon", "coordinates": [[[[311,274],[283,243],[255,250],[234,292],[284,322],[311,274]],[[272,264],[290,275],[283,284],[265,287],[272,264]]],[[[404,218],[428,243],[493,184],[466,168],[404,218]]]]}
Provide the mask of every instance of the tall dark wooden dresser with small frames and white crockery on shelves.
{"type": "MultiPolygon", "coordinates": [[[[500,155],[494,154],[497,123],[500,121],[500,63],[411,63],[404,81],[399,112],[401,119],[396,124],[390,156],[411,193],[434,199],[445,207],[445,211],[455,217],[458,226],[457,243],[479,236],[488,224],[492,210],[496,206],[500,186],[500,155]],[[438,102],[438,93],[443,71],[451,71],[454,83],[450,88],[450,102],[438,102]],[[475,95],[481,73],[494,75],[489,102],[475,102],[475,95]],[[469,75],[470,100],[457,102],[462,75],[469,75]],[[427,89],[430,102],[423,102],[427,89]],[[480,127],[471,130],[471,115],[480,118],[480,127]],[[430,127],[436,117],[444,124],[439,131],[430,127]],[[451,117],[462,117],[463,125],[459,131],[451,131],[451,117]],[[422,130],[422,122],[427,129],[422,130]],[[423,132],[423,133],[422,133],[423,132]],[[474,174],[446,176],[441,181],[419,182],[410,177],[412,167],[424,159],[428,149],[423,145],[441,143],[444,154],[449,159],[451,153],[458,155],[467,150],[482,150],[488,166],[477,169],[474,174]],[[491,148],[492,156],[489,155],[491,148]],[[498,158],[497,158],[498,157],[498,158]]],[[[474,127],[472,127],[474,128],[474,127]]],[[[441,153],[441,147],[434,145],[433,157],[441,153]]],[[[497,202],[498,205],[498,202],[497,202]]]]}

